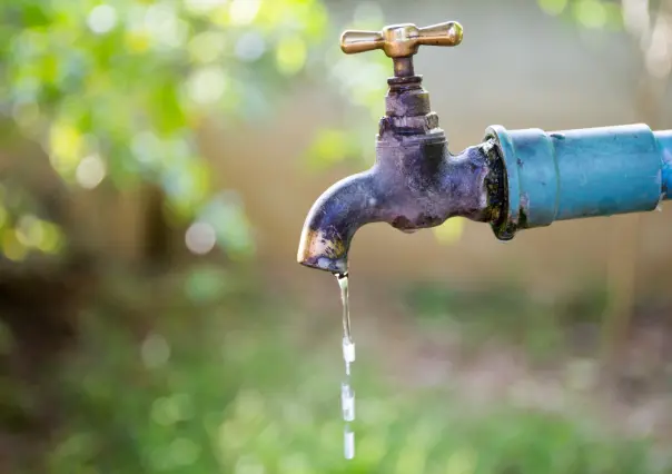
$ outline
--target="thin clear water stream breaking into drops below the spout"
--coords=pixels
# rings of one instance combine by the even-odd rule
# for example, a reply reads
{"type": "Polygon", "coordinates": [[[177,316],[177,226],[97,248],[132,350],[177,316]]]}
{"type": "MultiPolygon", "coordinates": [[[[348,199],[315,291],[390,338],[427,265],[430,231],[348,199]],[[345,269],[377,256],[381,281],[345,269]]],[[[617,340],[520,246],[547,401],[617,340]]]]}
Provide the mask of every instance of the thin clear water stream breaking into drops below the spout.
{"type": "Polygon", "coordinates": [[[346,460],[355,457],[355,433],[350,422],[355,421],[355,391],[352,385],[350,365],[355,362],[355,343],[350,334],[350,308],[348,304],[347,274],[336,275],[340,287],[340,302],[343,303],[343,361],[345,362],[345,378],[340,384],[340,407],[343,411],[344,454],[346,460]]]}

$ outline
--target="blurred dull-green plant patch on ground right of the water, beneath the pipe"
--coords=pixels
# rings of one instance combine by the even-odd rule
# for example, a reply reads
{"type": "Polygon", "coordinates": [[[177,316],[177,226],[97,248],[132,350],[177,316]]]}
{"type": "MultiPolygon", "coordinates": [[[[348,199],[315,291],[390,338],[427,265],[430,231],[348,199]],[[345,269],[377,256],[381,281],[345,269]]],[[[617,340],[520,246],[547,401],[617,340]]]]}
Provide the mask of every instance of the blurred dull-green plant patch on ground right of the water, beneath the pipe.
{"type": "MultiPolygon", "coordinates": [[[[445,284],[418,284],[405,299],[422,328],[452,328],[474,348],[491,340],[514,345],[525,349],[533,363],[545,363],[567,352],[577,325],[600,326],[606,302],[597,289],[562,302],[534,302],[514,285],[465,292],[445,284]]],[[[597,347],[593,349],[596,353],[597,347]]]]}

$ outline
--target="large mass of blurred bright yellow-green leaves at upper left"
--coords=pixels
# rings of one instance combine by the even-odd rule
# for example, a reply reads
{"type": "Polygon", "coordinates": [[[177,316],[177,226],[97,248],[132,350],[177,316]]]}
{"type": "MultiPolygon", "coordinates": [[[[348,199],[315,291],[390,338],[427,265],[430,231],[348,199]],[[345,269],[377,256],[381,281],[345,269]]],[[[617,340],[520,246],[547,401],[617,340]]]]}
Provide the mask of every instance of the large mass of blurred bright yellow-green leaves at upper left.
{"type": "Polygon", "coordinates": [[[180,221],[217,207],[202,122],[267,112],[320,57],[328,24],[319,0],[20,0],[0,18],[0,111],[67,182],[156,182],[180,221]]]}

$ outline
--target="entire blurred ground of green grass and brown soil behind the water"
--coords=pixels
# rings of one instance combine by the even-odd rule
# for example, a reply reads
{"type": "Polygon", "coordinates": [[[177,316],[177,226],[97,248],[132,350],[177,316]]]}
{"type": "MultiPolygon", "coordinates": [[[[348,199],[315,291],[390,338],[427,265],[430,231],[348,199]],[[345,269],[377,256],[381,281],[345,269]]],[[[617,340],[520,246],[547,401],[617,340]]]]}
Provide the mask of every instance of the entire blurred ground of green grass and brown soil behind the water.
{"type": "Polygon", "coordinates": [[[594,294],[391,292],[356,277],[358,455],[346,464],[339,302],[328,279],[330,290],[297,292],[277,276],[211,266],[108,275],[79,312],[78,348],[12,384],[2,458],[18,464],[4,470],[663,472],[664,308],[638,312],[627,366],[607,382],[581,317],[603,304],[594,294]]]}

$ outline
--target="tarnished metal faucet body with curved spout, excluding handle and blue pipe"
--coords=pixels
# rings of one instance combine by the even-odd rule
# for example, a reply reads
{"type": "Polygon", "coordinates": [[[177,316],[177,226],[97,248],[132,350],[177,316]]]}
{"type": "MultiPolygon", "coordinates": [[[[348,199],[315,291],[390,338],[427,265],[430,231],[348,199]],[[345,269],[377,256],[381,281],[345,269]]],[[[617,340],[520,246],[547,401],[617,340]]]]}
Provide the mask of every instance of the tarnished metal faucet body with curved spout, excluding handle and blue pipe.
{"type": "Polygon", "coordinates": [[[411,233],[453,216],[490,221],[496,213],[496,192],[488,185],[501,177],[492,144],[451,155],[421,78],[392,78],[388,83],[376,162],[317,199],[300,237],[303,265],[347,271],[350,240],[365,224],[387,223],[411,233]]]}

